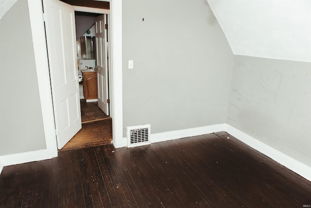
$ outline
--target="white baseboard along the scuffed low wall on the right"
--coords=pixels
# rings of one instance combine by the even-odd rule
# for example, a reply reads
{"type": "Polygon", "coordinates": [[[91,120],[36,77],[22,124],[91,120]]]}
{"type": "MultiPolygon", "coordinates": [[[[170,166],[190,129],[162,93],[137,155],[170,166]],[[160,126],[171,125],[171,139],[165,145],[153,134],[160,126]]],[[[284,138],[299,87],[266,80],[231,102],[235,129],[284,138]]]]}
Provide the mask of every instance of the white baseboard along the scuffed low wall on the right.
{"type": "Polygon", "coordinates": [[[254,148],[255,150],[261,152],[262,154],[270,157],[271,159],[275,160],[279,164],[285,166],[286,168],[294,171],[295,173],[301,175],[302,177],[306,178],[307,180],[311,181],[311,167],[295,160],[294,158],[260,142],[259,140],[255,139],[254,137],[241,132],[240,130],[230,126],[229,124],[225,125],[225,131],[228,132],[230,135],[234,136],[235,138],[239,139],[246,145],[254,148]]]}

